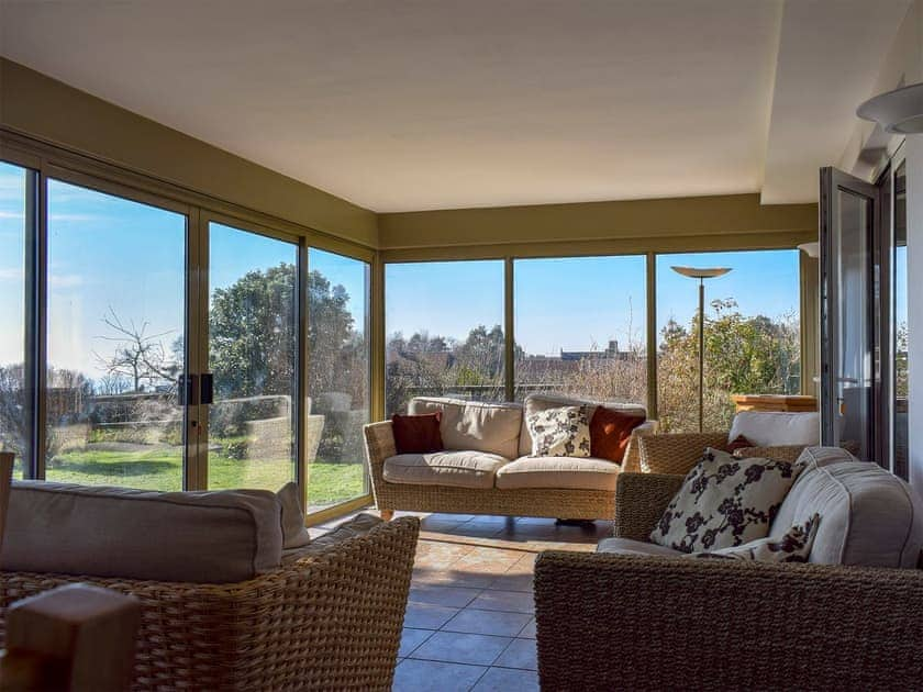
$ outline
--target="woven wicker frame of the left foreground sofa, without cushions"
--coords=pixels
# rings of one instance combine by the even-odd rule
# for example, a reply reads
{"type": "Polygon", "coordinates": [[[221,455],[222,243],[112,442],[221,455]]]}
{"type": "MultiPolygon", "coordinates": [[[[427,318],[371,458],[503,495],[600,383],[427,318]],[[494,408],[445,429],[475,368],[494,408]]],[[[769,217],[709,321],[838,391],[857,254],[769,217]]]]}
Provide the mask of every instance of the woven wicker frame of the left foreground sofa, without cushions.
{"type": "Polygon", "coordinates": [[[419,528],[379,524],[233,584],[0,572],[0,645],[10,603],[85,582],[142,603],[135,690],[389,690],[419,528]]]}

